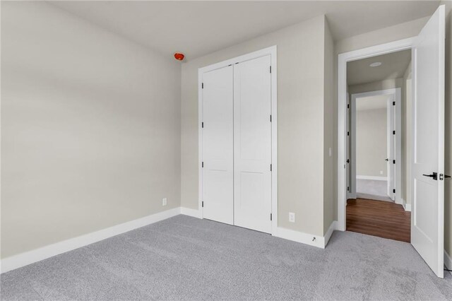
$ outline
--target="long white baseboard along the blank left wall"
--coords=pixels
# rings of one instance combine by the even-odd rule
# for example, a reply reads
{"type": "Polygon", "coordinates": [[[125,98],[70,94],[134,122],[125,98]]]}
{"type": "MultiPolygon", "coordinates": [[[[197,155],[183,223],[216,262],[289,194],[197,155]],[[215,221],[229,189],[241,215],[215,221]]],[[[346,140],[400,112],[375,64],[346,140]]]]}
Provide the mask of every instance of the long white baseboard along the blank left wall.
{"type": "Polygon", "coordinates": [[[181,213],[181,208],[172,208],[167,211],[162,211],[159,213],[151,214],[150,216],[145,216],[144,218],[138,218],[136,220],[131,220],[126,223],[119,225],[114,225],[109,228],[105,228],[96,232],[91,232],[85,235],[71,238],[69,240],[63,240],[61,242],[56,242],[54,244],[49,244],[45,247],[40,247],[38,249],[33,249],[28,252],[20,253],[5,259],[1,259],[1,273],[6,273],[12,271],[16,268],[21,268],[23,266],[28,266],[37,261],[41,261],[58,254],[72,251],[73,249],[78,249],[80,247],[85,247],[88,244],[93,244],[95,242],[100,242],[109,237],[113,237],[124,232],[135,230],[137,228],[144,227],[145,225],[150,225],[152,223],[157,223],[160,220],[166,220],[167,218],[172,218],[181,213]]]}

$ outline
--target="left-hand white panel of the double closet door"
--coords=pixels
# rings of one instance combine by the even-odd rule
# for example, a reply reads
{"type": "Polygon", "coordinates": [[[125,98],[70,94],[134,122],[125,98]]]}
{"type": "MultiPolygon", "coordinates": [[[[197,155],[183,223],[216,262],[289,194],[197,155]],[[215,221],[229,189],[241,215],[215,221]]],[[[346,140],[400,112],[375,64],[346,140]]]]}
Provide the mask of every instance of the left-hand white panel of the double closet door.
{"type": "Polygon", "coordinates": [[[203,218],[234,223],[233,67],[203,73],[203,218]]]}

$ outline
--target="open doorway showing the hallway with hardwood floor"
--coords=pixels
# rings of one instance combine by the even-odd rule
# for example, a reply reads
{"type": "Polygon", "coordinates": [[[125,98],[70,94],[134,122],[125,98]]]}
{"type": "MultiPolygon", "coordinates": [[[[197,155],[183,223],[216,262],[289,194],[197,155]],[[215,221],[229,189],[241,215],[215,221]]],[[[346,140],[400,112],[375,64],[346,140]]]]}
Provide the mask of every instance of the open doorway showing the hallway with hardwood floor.
{"type": "Polygon", "coordinates": [[[410,74],[411,49],[347,63],[346,230],[410,242],[410,74]]]}

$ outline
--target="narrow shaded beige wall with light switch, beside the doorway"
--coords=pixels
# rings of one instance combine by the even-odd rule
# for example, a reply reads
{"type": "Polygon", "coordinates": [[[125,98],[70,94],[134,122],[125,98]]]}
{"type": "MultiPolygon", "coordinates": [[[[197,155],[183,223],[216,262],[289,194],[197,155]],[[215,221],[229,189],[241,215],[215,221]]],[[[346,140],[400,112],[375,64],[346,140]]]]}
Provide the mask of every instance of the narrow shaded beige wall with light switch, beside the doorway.
{"type": "Polygon", "coordinates": [[[328,231],[331,223],[335,220],[335,199],[334,189],[337,184],[334,182],[334,175],[337,168],[334,165],[336,152],[334,150],[334,129],[333,123],[335,112],[333,99],[333,61],[334,61],[334,42],[331,36],[328,22],[325,20],[325,64],[324,64],[324,83],[323,83],[323,235],[328,231]],[[331,149],[331,155],[330,155],[331,149]]]}

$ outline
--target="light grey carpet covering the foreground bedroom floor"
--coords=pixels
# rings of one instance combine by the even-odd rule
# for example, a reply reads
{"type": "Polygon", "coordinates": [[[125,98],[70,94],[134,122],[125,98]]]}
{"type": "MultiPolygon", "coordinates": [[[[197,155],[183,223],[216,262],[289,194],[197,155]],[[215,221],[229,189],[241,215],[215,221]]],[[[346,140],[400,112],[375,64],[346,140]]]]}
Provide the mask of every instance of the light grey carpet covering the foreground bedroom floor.
{"type": "Polygon", "coordinates": [[[334,232],[326,249],[176,216],[8,272],[2,300],[451,300],[410,244],[334,232]]]}

